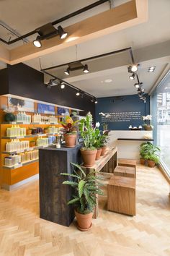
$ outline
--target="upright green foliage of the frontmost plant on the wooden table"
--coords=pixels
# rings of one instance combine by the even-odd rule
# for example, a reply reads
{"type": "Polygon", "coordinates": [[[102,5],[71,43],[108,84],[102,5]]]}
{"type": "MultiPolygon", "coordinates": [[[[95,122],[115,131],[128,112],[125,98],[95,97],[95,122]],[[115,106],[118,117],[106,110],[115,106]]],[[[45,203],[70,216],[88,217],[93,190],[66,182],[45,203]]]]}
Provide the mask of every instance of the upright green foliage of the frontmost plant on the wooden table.
{"type": "Polygon", "coordinates": [[[79,124],[79,131],[81,133],[81,137],[84,139],[84,148],[83,150],[95,150],[94,147],[96,142],[96,133],[95,128],[92,124],[93,118],[91,113],[89,112],[86,115],[86,118],[81,119],[79,124]]]}

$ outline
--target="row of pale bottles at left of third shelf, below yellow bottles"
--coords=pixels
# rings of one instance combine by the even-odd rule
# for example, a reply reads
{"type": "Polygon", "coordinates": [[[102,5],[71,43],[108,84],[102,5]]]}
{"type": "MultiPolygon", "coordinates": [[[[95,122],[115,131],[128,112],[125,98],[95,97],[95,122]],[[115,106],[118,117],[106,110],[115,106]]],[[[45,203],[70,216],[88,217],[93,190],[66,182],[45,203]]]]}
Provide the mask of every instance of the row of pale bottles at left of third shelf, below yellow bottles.
{"type": "Polygon", "coordinates": [[[19,151],[29,148],[29,140],[12,140],[11,142],[6,143],[6,151],[19,151]]]}

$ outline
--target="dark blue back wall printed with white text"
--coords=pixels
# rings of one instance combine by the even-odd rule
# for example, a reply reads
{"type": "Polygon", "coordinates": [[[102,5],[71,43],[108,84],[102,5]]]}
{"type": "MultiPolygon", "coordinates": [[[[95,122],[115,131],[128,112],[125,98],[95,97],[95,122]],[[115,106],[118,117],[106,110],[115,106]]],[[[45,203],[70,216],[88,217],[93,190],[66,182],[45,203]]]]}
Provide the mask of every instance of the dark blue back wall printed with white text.
{"type": "MultiPolygon", "coordinates": [[[[144,103],[138,95],[98,98],[96,104],[96,121],[107,123],[108,129],[127,130],[130,124],[138,127],[143,124],[142,116],[150,114],[150,97],[144,103]],[[99,115],[102,112],[108,117],[99,115]]],[[[100,127],[102,129],[102,127],[100,127]]]]}

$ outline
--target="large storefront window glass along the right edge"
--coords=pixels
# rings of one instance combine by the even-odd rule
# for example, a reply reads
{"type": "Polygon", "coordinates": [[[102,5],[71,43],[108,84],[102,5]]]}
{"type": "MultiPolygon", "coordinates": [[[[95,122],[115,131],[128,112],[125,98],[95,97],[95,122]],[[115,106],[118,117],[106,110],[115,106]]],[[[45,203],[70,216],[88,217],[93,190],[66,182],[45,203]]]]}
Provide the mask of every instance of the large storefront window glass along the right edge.
{"type": "Polygon", "coordinates": [[[153,139],[161,148],[161,162],[170,175],[170,72],[151,95],[153,139]]]}

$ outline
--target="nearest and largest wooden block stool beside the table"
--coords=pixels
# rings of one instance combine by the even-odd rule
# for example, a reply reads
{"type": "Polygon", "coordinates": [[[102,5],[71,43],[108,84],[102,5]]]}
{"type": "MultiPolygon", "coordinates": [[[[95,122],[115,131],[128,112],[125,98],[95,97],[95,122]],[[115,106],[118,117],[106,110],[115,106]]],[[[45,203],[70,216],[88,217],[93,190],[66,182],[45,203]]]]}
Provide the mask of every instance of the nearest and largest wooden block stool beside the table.
{"type": "Polygon", "coordinates": [[[107,185],[107,210],[135,216],[135,179],[112,176],[107,185]]]}

